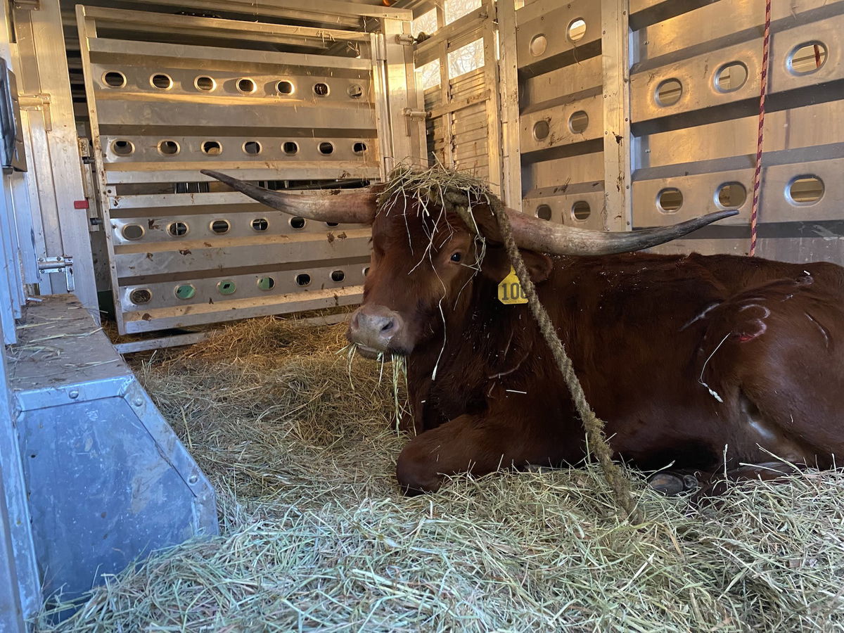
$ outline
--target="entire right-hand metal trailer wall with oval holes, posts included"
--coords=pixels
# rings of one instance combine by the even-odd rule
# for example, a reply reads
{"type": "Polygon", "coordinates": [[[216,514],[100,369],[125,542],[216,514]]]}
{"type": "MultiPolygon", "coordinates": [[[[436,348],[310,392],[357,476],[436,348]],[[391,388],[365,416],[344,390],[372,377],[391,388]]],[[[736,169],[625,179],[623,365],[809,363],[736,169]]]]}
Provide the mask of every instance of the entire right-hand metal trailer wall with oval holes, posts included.
{"type": "MultiPolygon", "coordinates": [[[[499,3],[509,203],[609,230],[737,208],[657,250],[748,252],[765,4],[499,3]]],[[[844,262],[842,30],[840,0],[773,3],[761,257],[844,262]]]]}

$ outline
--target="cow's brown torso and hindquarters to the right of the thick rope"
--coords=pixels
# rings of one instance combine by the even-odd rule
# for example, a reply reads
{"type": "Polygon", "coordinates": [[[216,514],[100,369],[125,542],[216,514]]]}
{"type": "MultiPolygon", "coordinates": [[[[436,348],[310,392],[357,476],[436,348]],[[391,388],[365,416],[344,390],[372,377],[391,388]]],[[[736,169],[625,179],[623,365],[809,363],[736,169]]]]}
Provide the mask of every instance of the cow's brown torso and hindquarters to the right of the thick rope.
{"type": "Polygon", "coordinates": [[[540,295],[625,457],[702,468],[725,444],[739,460],[756,459],[757,444],[795,459],[844,450],[844,269],[558,258],[540,295]]]}

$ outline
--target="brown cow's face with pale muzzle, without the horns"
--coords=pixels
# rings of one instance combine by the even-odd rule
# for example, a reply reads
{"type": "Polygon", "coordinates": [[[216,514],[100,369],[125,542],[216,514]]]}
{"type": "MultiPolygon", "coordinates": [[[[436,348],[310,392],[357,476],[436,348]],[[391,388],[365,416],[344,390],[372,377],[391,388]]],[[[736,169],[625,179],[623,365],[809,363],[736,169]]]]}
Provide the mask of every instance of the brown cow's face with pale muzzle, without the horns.
{"type": "MultiPolygon", "coordinates": [[[[363,304],[354,312],[347,337],[360,354],[410,354],[436,335],[446,320],[468,311],[473,287],[503,279],[510,264],[489,208],[477,209],[481,235],[456,214],[440,208],[418,213],[415,204],[387,205],[372,225],[372,256],[363,304]]],[[[544,280],[550,260],[522,252],[535,281],[544,280]]],[[[490,292],[490,300],[495,300],[490,292]]]]}

